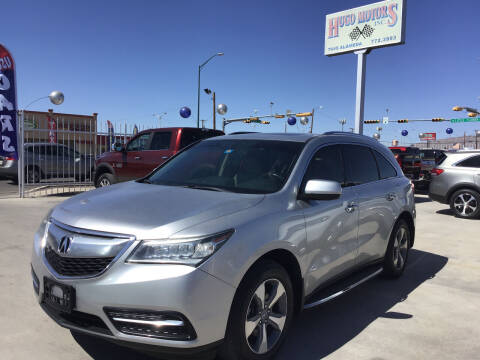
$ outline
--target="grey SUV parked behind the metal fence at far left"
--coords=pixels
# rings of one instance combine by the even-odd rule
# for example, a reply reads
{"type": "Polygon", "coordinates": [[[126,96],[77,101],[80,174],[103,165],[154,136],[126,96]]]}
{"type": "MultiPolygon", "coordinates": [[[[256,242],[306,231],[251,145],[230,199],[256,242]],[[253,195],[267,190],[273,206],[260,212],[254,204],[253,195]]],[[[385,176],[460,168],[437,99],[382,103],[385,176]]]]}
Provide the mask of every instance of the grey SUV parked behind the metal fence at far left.
{"type": "MultiPolygon", "coordinates": [[[[90,155],[80,154],[63,144],[26,143],[24,146],[24,177],[27,184],[50,178],[91,178],[94,159],[90,155]]],[[[0,158],[0,177],[18,182],[18,161],[0,158]]]]}

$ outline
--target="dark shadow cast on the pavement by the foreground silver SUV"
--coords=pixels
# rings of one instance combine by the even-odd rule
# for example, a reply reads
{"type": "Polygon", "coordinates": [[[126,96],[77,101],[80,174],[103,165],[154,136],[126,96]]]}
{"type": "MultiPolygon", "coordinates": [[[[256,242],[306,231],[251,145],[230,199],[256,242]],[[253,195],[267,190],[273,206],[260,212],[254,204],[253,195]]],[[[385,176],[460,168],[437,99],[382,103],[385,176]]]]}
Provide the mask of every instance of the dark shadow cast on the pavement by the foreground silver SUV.
{"type": "MultiPolygon", "coordinates": [[[[403,321],[414,315],[389,311],[423,282],[432,279],[448,258],[412,249],[403,276],[378,277],[318,308],[305,310],[296,319],[275,359],[318,360],[352,340],[379,317],[403,321]]],[[[75,341],[95,360],[159,359],[134,350],[72,332],[75,341]]],[[[192,357],[195,359],[195,357],[192,357]]]]}

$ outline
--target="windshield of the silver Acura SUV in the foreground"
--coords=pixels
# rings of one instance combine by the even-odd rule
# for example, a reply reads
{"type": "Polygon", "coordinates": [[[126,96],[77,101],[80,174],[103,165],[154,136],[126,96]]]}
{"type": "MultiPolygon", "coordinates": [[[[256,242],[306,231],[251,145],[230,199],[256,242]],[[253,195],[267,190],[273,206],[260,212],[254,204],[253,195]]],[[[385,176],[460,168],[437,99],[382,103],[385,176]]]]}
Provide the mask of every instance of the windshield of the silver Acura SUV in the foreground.
{"type": "Polygon", "coordinates": [[[202,141],[165,163],[145,182],[238,193],[272,193],[287,181],[303,145],[269,140],[202,141]]]}

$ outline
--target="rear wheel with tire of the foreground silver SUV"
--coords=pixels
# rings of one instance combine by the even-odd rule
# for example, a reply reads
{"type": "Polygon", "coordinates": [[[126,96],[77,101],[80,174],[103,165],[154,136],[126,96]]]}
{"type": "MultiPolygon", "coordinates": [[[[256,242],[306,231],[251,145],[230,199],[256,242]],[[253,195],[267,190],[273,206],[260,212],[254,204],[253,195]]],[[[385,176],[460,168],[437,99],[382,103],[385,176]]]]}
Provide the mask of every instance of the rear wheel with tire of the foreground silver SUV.
{"type": "Polygon", "coordinates": [[[404,219],[395,224],[383,264],[383,274],[387,277],[398,278],[403,274],[408,260],[412,231],[404,219]]]}

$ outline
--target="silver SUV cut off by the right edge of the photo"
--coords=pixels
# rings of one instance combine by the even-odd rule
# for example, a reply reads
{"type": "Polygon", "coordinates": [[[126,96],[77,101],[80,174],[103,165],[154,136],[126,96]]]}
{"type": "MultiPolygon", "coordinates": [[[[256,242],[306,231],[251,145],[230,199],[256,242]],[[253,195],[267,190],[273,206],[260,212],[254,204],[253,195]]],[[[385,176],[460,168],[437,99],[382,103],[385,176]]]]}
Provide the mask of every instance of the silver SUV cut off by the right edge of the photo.
{"type": "Polygon", "coordinates": [[[431,171],[429,197],[449,204],[455,216],[480,217],[480,150],[445,155],[431,171]]]}

